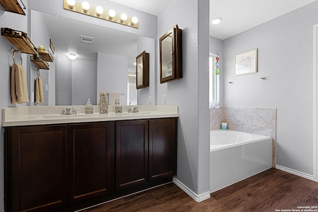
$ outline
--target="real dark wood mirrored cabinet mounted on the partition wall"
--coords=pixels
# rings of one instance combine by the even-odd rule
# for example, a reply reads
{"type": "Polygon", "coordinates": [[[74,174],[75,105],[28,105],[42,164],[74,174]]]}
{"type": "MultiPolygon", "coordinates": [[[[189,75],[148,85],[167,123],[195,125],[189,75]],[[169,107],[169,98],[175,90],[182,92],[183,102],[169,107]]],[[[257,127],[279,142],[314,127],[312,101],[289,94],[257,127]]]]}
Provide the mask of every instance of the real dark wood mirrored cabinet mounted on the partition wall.
{"type": "Polygon", "coordinates": [[[159,40],[160,83],[182,78],[182,29],[175,25],[159,40]]]}

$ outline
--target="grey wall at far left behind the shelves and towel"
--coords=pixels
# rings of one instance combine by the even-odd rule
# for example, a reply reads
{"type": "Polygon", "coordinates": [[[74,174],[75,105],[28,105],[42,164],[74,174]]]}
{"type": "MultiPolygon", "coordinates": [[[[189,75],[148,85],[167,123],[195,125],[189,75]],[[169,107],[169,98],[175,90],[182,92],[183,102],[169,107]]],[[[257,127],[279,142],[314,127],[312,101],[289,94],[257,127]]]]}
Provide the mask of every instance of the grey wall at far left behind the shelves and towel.
{"type": "MultiPolygon", "coordinates": [[[[27,7],[27,0],[23,0],[25,6],[27,7]]],[[[26,14],[28,11],[25,11],[26,14]]],[[[15,14],[11,12],[6,12],[0,6],[0,26],[1,27],[9,27],[11,29],[27,32],[27,17],[20,14],[15,14]]],[[[11,48],[14,47],[9,43],[3,36],[0,36],[0,64],[1,64],[1,71],[0,71],[0,108],[3,107],[14,107],[24,104],[11,104],[10,98],[10,71],[11,66],[13,64],[11,48]]],[[[27,70],[27,65],[29,59],[27,54],[22,54],[23,60],[23,67],[27,70]]],[[[27,75],[27,83],[30,83],[30,75],[27,75]]],[[[30,92],[29,92],[30,94],[30,92]]],[[[29,95],[30,97],[30,95],[29,95]]],[[[1,120],[2,120],[2,113],[1,113],[1,120]]],[[[4,190],[4,183],[3,183],[3,137],[4,129],[3,127],[0,128],[0,211],[4,211],[4,203],[3,203],[3,190],[4,190]]]]}

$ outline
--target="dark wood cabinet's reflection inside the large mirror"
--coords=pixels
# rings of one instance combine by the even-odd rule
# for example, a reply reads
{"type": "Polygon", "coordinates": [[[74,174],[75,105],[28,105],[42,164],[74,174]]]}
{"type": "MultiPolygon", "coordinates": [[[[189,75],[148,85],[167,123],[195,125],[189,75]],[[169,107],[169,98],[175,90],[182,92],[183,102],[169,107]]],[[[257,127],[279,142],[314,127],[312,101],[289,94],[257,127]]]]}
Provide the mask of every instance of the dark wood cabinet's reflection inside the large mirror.
{"type": "Polygon", "coordinates": [[[143,51],[136,57],[136,88],[149,87],[149,53],[143,51]]]}

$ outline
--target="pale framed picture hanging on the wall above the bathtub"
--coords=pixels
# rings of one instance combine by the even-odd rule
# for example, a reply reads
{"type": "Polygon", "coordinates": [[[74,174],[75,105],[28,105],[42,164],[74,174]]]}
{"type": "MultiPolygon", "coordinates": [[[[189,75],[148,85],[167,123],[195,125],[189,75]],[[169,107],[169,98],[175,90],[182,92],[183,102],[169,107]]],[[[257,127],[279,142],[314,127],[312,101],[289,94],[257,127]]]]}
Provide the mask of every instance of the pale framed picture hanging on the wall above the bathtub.
{"type": "Polygon", "coordinates": [[[257,49],[252,49],[234,56],[234,75],[257,72],[257,49]]]}

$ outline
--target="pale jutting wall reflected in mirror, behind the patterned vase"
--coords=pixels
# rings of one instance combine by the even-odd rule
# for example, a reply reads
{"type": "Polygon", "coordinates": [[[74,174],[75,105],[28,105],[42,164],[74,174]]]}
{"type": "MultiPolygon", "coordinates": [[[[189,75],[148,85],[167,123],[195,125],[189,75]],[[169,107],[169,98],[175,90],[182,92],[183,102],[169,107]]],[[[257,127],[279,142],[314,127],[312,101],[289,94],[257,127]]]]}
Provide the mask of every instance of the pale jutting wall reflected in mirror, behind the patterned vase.
{"type": "MultiPolygon", "coordinates": [[[[99,92],[107,93],[127,93],[127,57],[109,55],[105,53],[97,54],[97,101],[99,101],[99,92]]],[[[127,99],[124,95],[119,95],[120,103],[127,105],[127,99]]],[[[114,104],[114,102],[108,102],[114,104]]]]}

